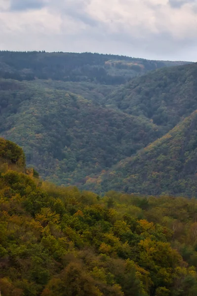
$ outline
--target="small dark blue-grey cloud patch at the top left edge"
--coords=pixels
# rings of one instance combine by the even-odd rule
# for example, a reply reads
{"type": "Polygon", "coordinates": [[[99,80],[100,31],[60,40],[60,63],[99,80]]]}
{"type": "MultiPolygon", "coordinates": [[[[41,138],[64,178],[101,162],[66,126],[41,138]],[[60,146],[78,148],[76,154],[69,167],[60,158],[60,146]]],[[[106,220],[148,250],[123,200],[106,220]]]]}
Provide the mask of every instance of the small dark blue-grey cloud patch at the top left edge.
{"type": "Polygon", "coordinates": [[[10,11],[23,11],[29,9],[40,9],[45,6],[43,0],[11,0],[10,11]]]}

